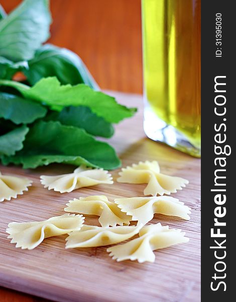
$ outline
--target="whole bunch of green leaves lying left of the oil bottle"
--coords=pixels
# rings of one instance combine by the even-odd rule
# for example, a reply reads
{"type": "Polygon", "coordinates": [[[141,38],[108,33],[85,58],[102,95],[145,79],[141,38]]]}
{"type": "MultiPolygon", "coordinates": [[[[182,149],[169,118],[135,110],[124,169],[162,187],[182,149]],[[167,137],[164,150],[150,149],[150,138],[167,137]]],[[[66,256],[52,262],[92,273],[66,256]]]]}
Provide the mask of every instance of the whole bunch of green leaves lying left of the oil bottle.
{"type": "Polygon", "coordinates": [[[133,116],[102,92],[82,60],[44,44],[51,16],[47,0],[25,0],[7,15],[0,5],[0,160],[36,168],[50,163],[115,169],[112,123],[133,116]],[[13,81],[17,71],[25,83],[13,81]]]}

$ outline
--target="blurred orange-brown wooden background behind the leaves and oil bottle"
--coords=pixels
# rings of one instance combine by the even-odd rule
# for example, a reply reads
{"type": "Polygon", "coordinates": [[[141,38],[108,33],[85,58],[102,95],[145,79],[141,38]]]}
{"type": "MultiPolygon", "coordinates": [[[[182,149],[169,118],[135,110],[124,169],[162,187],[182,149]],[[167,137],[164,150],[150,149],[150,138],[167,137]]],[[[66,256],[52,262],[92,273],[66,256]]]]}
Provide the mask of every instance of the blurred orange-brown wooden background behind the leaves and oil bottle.
{"type": "MultiPolygon", "coordinates": [[[[7,12],[21,0],[0,0],[7,12]]],[[[76,52],[102,89],[142,93],[141,0],[51,0],[50,43],[76,52]]]]}

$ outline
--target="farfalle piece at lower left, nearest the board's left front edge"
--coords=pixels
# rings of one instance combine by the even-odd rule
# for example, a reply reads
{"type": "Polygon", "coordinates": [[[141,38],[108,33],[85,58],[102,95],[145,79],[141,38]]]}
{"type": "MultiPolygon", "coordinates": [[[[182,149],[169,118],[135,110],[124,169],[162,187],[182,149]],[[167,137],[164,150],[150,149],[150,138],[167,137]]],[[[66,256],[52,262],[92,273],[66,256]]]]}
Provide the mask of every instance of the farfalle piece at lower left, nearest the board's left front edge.
{"type": "Polygon", "coordinates": [[[11,222],[6,232],[11,243],[16,243],[16,248],[33,250],[45,238],[68,234],[80,230],[84,221],[82,215],[64,214],[51,217],[44,221],[11,222]]]}

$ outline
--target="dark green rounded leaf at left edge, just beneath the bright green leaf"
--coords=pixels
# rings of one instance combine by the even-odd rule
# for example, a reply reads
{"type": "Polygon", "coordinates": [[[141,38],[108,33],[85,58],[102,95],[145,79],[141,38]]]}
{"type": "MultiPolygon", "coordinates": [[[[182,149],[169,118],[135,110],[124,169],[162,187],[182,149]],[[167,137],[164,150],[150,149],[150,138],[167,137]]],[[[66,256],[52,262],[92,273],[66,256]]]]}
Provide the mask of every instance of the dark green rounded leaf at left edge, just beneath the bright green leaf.
{"type": "Polygon", "coordinates": [[[0,117],[15,124],[28,124],[46,115],[47,109],[42,105],[9,93],[0,92],[0,117]]]}

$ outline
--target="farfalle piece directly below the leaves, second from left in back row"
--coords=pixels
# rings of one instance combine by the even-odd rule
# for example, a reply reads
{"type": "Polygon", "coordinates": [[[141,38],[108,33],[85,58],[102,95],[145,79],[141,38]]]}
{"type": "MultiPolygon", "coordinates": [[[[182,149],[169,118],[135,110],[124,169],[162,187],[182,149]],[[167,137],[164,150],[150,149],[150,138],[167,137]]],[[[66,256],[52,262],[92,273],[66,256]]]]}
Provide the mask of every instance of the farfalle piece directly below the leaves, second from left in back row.
{"type": "Polygon", "coordinates": [[[108,171],[86,168],[83,165],[70,174],[56,176],[41,175],[40,178],[44,188],[53,189],[60,193],[71,192],[75,189],[98,184],[113,184],[112,177],[108,171]]]}

